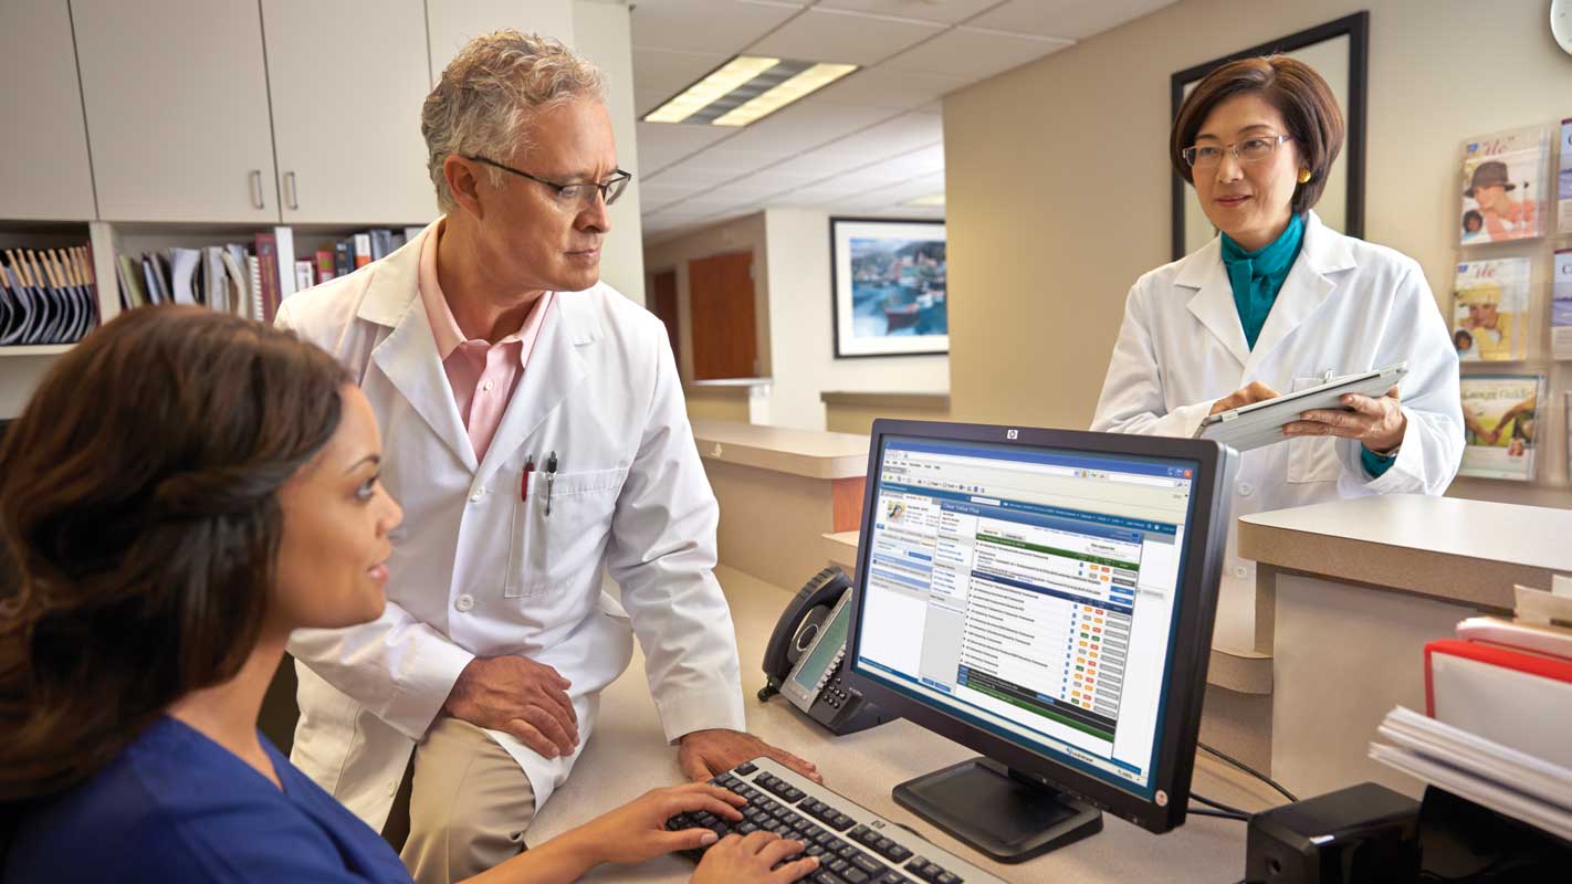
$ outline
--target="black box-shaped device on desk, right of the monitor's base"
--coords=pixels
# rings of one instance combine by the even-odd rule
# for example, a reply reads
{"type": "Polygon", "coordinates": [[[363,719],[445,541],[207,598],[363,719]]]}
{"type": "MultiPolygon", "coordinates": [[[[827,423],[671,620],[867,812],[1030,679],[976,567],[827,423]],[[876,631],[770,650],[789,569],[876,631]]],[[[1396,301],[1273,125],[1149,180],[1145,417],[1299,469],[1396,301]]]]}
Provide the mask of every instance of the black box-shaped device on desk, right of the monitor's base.
{"type": "Polygon", "coordinates": [[[1404,884],[1420,878],[1420,802],[1372,782],[1256,813],[1250,884],[1404,884]]]}

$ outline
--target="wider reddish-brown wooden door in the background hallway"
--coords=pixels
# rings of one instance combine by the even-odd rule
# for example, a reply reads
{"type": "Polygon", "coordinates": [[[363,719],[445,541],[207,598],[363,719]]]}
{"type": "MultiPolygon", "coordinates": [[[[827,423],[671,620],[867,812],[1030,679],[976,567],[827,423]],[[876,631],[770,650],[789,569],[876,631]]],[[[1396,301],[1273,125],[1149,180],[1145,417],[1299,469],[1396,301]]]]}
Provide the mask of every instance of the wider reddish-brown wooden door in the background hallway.
{"type": "Polygon", "coordinates": [[[693,380],[755,377],[753,253],[689,261],[693,316],[693,380]]]}

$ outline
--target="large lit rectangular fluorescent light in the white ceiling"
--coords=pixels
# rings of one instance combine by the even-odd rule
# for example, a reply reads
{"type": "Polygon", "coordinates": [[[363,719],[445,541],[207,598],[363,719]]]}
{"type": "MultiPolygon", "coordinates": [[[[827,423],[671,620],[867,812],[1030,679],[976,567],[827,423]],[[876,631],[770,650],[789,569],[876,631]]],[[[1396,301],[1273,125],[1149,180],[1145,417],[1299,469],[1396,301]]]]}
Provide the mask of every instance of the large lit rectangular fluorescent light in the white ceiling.
{"type": "Polygon", "coordinates": [[[739,55],[645,115],[645,122],[747,126],[806,97],[857,64],[814,64],[739,55]]]}

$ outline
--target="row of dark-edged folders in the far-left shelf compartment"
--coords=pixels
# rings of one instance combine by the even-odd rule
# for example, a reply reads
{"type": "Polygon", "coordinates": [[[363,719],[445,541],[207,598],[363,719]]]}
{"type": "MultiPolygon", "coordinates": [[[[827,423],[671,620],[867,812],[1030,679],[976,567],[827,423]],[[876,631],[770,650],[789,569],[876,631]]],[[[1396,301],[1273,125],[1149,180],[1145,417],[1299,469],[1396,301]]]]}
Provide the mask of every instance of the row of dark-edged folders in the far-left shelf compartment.
{"type": "Polygon", "coordinates": [[[0,254],[0,345],[71,344],[97,322],[88,247],[0,254]]]}

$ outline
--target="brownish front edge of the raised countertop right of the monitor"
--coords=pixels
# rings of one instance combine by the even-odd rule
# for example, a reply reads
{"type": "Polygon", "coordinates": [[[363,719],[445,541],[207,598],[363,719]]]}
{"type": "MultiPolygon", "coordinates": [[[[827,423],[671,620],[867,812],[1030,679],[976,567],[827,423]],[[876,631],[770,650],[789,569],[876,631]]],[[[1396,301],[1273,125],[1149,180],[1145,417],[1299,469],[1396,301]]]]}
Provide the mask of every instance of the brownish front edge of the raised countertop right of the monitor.
{"type": "Polygon", "coordinates": [[[1548,587],[1553,573],[1533,565],[1330,537],[1245,520],[1239,521],[1239,556],[1278,572],[1333,578],[1497,611],[1512,609],[1515,584],[1548,587]]]}

